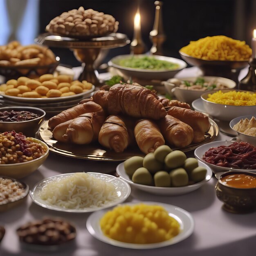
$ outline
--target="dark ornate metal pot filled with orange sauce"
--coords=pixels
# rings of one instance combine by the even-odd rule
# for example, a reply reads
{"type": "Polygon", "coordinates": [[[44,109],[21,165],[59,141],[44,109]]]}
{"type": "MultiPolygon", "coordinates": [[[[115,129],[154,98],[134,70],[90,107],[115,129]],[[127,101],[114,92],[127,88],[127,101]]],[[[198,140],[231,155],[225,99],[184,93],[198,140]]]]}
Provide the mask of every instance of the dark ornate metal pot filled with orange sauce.
{"type": "Polygon", "coordinates": [[[231,213],[256,211],[256,173],[229,171],[222,173],[215,186],[222,208],[231,213]]]}

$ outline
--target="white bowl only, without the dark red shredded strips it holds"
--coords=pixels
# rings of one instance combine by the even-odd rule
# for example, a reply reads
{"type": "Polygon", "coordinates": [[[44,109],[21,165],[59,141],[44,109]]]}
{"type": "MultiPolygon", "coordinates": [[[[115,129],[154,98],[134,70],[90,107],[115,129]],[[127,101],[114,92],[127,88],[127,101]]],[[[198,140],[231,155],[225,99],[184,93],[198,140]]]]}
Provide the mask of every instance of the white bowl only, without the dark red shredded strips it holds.
{"type": "Polygon", "coordinates": [[[202,159],[202,156],[204,155],[204,153],[206,151],[208,151],[210,148],[217,148],[218,146],[229,146],[231,144],[233,144],[234,141],[213,141],[207,144],[204,144],[202,146],[199,146],[198,148],[195,149],[194,155],[197,159],[199,159],[200,161],[202,161],[204,164],[206,164],[207,166],[209,166],[211,168],[211,170],[213,171],[213,173],[219,173],[219,172],[227,172],[227,171],[250,171],[250,172],[256,172],[256,170],[247,170],[247,169],[234,169],[234,168],[228,168],[228,167],[220,167],[214,164],[209,164],[207,162],[205,162],[202,159]]]}

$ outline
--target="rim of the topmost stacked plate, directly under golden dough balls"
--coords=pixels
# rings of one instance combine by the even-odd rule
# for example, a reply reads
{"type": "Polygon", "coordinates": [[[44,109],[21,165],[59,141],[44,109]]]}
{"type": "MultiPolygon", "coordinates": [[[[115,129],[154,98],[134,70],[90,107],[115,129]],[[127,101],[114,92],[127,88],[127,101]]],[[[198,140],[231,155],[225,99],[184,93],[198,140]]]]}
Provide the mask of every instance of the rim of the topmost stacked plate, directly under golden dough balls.
{"type": "Polygon", "coordinates": [[[1,96],[4,99],[9,99],[10,101],[15,101],[15,102],[53,103],[53,102],[59,102],[59,101],[71,101],[74,99],[85,98],[87,96],[90,96],[91,92],[93,92],[94,89],[95,89],[95,86],[92,85],[92,89],[88,90],[87,92],[82,92],[82,93],[67,96],[67,97],[55,97],[55,98],[24,98],[24,97],[10,96],[10,95],[6,95],[6,94],[1,94],[1,96]]]}

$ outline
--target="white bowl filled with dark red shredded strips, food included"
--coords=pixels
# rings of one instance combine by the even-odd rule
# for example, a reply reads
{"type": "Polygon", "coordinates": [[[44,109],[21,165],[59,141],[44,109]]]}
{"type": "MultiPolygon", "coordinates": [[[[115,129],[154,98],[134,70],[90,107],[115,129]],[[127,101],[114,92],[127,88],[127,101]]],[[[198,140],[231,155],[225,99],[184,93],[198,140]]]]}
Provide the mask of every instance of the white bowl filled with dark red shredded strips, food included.
{"type": "Polygon", "coordinates": [[[213,173],[256,172],[256,146],[245,141],[213,141],[196,148],[194,154],[210,166],[213,173]]]}

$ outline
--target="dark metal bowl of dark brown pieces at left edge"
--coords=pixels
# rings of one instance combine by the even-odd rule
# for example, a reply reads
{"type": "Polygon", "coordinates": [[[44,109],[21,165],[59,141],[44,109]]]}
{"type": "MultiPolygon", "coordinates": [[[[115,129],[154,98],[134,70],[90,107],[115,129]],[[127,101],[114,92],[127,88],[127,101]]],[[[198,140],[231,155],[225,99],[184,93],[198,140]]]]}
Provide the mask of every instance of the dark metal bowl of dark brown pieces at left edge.
{"type": "Polygon", "coordinates": [[[45,118],[45,111],[34,107],[0,108],[0,132],[15,130],[34,137],[45,118]]]}

